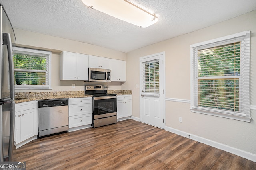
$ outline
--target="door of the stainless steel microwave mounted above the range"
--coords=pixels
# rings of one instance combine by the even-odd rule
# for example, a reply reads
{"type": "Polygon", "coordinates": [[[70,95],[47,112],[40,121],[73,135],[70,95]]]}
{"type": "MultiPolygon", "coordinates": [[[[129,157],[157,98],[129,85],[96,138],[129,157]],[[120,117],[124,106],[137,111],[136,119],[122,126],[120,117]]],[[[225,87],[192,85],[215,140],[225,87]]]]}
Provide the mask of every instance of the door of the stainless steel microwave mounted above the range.
{"type": "Polygon", "coordinates": [[[89,81],[90,82],[106,82],[107,72],[105,69],[89,68],[89,81]]]}

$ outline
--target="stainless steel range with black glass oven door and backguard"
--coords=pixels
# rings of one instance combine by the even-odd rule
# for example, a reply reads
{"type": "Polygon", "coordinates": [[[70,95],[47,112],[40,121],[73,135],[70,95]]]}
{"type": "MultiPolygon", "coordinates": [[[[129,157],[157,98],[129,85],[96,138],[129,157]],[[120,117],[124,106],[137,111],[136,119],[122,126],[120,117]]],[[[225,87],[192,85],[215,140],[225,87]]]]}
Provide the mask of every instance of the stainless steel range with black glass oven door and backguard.
{"type": "Polygon", "coordinates": [[[108,94],[107,90],[107,85],[85,86],[85,94],[93,95],[92,127],[117,122],[116,94],[108,94]]]}

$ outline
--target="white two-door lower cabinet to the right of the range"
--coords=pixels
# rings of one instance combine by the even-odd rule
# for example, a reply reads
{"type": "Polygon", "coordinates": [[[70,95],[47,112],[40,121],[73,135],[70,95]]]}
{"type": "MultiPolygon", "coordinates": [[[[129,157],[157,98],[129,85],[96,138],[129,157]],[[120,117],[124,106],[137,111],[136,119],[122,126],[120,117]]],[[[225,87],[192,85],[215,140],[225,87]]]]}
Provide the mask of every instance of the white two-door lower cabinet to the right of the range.
{"type": "Polygon", "coordinates": [[[117,96],[117,119],[132,116],[132,95],[117,96]]]}

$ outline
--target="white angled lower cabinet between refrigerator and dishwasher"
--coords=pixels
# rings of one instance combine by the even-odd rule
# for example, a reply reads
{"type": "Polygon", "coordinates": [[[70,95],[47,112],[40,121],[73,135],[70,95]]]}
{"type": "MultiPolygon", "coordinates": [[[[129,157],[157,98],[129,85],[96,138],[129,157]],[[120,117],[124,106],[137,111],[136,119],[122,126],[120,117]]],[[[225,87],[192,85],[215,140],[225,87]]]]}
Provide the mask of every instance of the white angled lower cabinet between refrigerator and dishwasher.
{"type": "Polygon", "coordinates": [[[37,101],[15,104],[14,144],[16,148],[37,138],[37,101]]]}

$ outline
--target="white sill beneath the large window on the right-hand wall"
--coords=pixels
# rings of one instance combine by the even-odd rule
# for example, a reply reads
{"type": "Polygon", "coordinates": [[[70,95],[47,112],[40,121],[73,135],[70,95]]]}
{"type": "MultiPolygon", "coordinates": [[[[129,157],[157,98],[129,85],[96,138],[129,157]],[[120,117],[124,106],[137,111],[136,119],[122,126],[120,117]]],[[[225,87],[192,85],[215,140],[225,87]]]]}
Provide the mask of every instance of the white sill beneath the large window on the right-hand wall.
{"type": "Polygon", "coordinates": [[[210,110],[207,110],[207,109],[204,110],[204,109],[198,109],[198,108],[193,108],[192,107],[192,108],[190,108],[190,111],[194,112],[194,113],[212,115],[212,116],[217,116],[217,117],[224,117],[224,118],[227,118],[227,119],[234,119],[234,120],[245,121],[245,122],[249,122],[249,123],[250,123],[250,120],[251,120],[250,117],[232,115],[232,114],[220,113],[220,112],[217,113],[217,112],[210,111],[210,110]]]}

